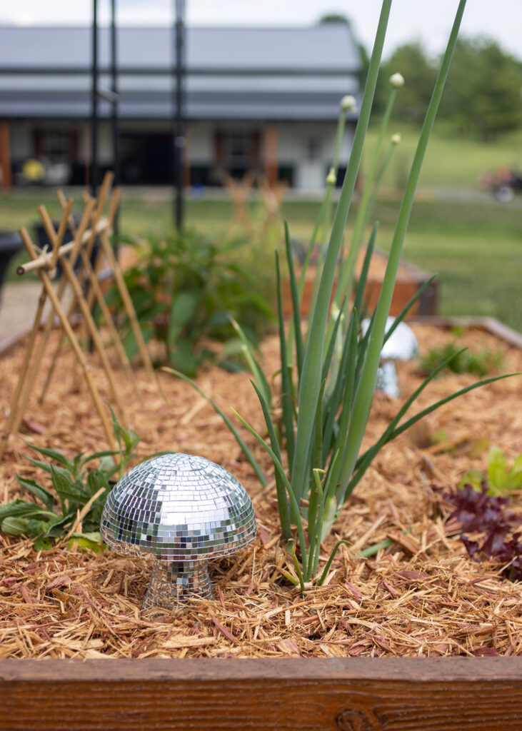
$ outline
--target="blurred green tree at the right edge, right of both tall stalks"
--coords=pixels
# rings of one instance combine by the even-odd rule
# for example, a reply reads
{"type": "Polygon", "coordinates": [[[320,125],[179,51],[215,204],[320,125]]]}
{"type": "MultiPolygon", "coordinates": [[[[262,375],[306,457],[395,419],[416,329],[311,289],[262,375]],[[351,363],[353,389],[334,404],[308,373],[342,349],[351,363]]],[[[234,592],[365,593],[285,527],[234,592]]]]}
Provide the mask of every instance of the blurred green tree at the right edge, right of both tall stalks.
{"type": "Polygon", "coordinates": [[[522,64],[484,38],[458,41],[440,116],[455,129],[493,140],[522,124],[522,64]]]}

